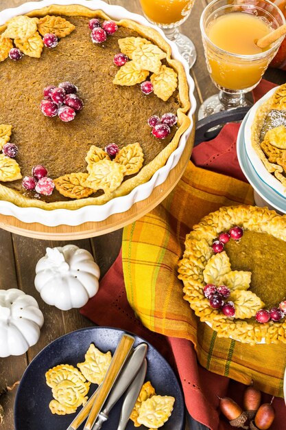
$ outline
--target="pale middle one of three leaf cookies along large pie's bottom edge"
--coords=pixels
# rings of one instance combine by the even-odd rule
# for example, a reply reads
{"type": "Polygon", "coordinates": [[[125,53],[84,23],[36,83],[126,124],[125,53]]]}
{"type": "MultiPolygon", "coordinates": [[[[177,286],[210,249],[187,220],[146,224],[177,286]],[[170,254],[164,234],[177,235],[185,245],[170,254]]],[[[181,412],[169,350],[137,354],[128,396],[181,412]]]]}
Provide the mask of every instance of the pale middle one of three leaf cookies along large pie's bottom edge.
{"type": "Polygon", "coordinates": [[[104,159],[94,163],[88,178],[83,183],[93,190],[104,190],[106,194],[116,190],[123,181],[125,167],[114,161],[104,159]]]}

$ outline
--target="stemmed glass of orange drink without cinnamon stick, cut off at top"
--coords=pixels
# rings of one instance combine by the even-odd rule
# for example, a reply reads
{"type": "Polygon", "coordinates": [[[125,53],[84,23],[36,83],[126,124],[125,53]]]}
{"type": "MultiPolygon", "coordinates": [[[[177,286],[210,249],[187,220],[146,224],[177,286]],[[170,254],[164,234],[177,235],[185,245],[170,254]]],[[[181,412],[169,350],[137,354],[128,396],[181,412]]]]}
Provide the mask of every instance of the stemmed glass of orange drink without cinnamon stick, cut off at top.
{"type": "Polygon", "coordinates": [[[170,41],[174,41],[189,67],[195,63],[195,46],[178,27],[186,21],[194,0],[140,0],[143,14],[152,24],[162,28],[170,41]]]}

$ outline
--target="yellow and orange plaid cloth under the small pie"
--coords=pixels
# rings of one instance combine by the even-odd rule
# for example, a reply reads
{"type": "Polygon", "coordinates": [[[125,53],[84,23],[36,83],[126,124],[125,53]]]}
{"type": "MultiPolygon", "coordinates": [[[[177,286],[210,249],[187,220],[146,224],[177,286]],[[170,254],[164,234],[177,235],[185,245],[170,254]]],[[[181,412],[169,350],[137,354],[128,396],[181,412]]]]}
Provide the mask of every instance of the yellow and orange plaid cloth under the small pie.
{"type": "Polygon", "coordinates": [[[285,345],[250,346],[219,339],[195,317],[177,278],[184,239],[195,223],[224,205],[253,204],[248,183],[195,167],[191,161],[171,194],[152,212],[125,227],[122,261],[128,302],[144,326],[193,342],[211,372],[283,396],[285,345]]]}

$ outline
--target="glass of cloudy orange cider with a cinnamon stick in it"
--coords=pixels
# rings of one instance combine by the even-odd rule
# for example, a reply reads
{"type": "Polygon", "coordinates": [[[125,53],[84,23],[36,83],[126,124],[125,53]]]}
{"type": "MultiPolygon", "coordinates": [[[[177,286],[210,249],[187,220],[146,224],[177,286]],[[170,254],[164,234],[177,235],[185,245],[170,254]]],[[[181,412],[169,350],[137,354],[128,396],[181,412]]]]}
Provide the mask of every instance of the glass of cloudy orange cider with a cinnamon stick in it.
{"type": "Polygon", "coordinates": [[[208,73],[219,94],[200,107],[199,119],[250,104],[245,94],[259,84],[284,36],[264,49],[257,40],[285,23],[269,0],[213,0],[202,12],[200,29],[208,73]]]}

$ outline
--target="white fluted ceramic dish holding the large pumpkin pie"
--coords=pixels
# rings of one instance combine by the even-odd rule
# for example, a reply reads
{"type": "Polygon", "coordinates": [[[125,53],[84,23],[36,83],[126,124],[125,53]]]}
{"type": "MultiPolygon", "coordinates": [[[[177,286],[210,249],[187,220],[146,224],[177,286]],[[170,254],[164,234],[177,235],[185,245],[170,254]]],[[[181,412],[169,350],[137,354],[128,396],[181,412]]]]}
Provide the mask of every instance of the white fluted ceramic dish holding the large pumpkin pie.
{"type": "MultiPolygon", "coordinates": [[[[3,10],[0,12],[0,25],[4,24],[6,21],[11,19],[13,16],[26,14],[27,12],[31,12],[32,10],[44,8],[45,6],[56,4],[56,5],[67,5],[67,4],[80,4],[86,6],[86,8],[92,10],[103,10],[108,16],[115,20],[120,19],[132,19],[142,25],[147,25],[155,28],[160,34],[167,40],[162,30],[154,25],[148,23],[148,21],[139,14],[134,14],[132,12],[128,12],[125,8],[121,6],[109,5],[102,0],[43,0],[39,2],[29,2],[20,5],[18,8],[10,8],[3,10]]],[[[67,210],[67,209],[56,209],[46,211],[43,209],[39,209],[36,207],[19,207],[10,203],[8,201],[0,201],[0,214],[14,216],[24,223],[40,223],[43,225],[47,225],[48,227],[56,227],[57,225],[80,225],[82,223],[86,223],[88,221],[102,221],[108,218],[108,216],[112,214],[126,212],[132,207],[132,205],[136,202],[143,201],[150,196],[152,191],[157,185],[162,184],[172,168],[174,168],[186,146],[187,139],[191,133],[193,128],[193,113],[195,112],[195,98],[193,95],[194,90],[194,82],[191,76],[189,75],[189,66],[187,65],[186,60],[182,58],[180,53],[178,52],[178,48],[176,45],[169,40],[167,40],[169,45],[171,46],[172,58],[179,60],[184,66],[184,70],[187,76],[187,82],[189,84],[189,99],[191,102],[191,109],[187,114],[191,120],[191,125],[187,131],[185,131],[180,137],[180,143],[178,144],[178,148],[172,152],[167,163],[162,168],[158,169],[150,181],[143,183],[130,194],[126,196],[117,197],[116,199],[112,199],[105,203],[104,205],[89,205],[85,207],[81,207],[77,210],[67,210]]]]}

